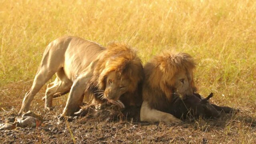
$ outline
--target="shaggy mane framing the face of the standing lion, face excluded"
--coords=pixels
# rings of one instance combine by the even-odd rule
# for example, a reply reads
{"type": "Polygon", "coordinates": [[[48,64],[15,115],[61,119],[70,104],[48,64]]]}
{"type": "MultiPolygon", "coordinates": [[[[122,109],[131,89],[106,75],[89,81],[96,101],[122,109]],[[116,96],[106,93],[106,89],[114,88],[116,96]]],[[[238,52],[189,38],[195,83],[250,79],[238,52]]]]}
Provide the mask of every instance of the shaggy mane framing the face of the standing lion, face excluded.
{"type": "Polygon", "coordinates": [[[109,72],[115,71],[119,76],[125,76],[131,82],[128,91],[120,97],[125,106],[141,105],[141,85],[143,82],[143,66],[136,51],[128,44],[111,42],[106,47],[106,52],[99,59],[93,70],[93,76],[88,84],[86,92],[91,96],[89,101],[96,103],[105,102],[97,91],[105,89],[105,78],[109,72]]]}

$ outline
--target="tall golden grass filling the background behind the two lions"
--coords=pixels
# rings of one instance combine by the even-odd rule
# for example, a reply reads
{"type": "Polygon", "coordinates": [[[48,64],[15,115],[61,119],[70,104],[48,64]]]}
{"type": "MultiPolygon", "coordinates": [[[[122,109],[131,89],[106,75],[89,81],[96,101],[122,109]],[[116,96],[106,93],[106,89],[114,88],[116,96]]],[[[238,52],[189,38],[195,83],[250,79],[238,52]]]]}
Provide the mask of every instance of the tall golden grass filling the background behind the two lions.
{"type": "Polygon", "coordinates": [[[33,79],[46,45],[63,35],[128,42],[144,63],[187,52],[200,93],[256,108],[254,0],[1,0],[0,87],[33,79]]]}

